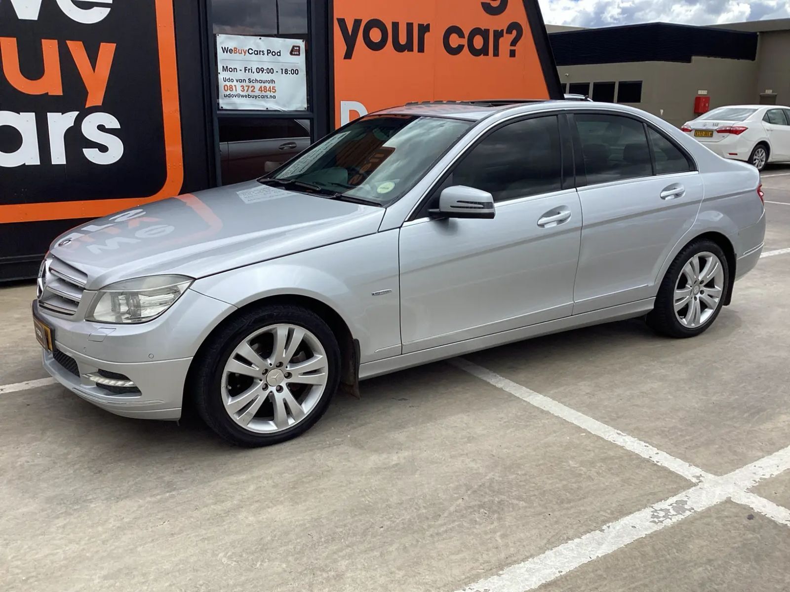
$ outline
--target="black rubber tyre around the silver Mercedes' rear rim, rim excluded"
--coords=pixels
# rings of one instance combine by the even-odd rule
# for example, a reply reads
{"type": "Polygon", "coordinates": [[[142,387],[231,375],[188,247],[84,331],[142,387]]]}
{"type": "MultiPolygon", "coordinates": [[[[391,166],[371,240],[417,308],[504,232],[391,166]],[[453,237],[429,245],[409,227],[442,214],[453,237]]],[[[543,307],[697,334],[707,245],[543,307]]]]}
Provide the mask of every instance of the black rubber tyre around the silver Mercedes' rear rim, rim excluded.
{"type": "Polygon", "coordinates": [[[678,253],[678,256],[672,261],[672,265],[669,266],[667,273],[664,275],[656,295],[656,303],[653,306],[653,310],[647,315],[647,324],[660,335],[668,335],[669,337],[680,339],[695,337],[705,332],[721,312],[721,307],[724,305],[724,294],[726,294],[729,281],[730,270],[727,257],[724,255],[721,247],[706,238],[691,242],[678,253]],[[689,328],[683,325],[675,315],[675,288],[678,286],[683,267],[691,257],[699,253],[713,253],[713,255],[718,257],[724,270],[724,288],[716,308],[708,319],[698,327],[689,328]]]}

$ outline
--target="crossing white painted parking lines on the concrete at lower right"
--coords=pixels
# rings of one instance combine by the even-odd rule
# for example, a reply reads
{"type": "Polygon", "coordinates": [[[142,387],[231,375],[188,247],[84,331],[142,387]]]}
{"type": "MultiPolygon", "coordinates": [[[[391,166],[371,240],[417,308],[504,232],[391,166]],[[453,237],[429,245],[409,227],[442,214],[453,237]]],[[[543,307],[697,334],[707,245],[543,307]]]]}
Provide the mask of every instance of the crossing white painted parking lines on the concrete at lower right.
{"type": "Polygon", "coordinates": [[[535,407],[546,410],[566,422],[577,425],[589,433],[602,437],[613,444],[618,444],[626,450],[635,452],[657,465],[664,466],[690,481],[698,483],[691,489],[667,500],[635,511],[598,530],[593,530],[573,541],[549,549],[521,564],[505,568],[497,575],[482,579],[480,582],[464,588],[461,592],[479,592],[481,590],[486,590],[486,592],[525,592],[525,590],[533,590],[593,559],[613,553],[630,542],[637,541],[656,530],[678,523],[689,515],[712,508],[728,499],[738,504],[747,505],[777,523],[790,526],[790,510],[774,504],[764,497],[747,492],[747,489],[751,489],[759,481],[790,469],[790,446],[734,470],[732,473],[717,477],[681,459],[676,459],[650,444],[641,442],[641,440],[566,407],[554,399],[540,395],[521,384],[491,372],[491,370],[468,362],[464,358],[450,360],[450,364],[535,407]]]}

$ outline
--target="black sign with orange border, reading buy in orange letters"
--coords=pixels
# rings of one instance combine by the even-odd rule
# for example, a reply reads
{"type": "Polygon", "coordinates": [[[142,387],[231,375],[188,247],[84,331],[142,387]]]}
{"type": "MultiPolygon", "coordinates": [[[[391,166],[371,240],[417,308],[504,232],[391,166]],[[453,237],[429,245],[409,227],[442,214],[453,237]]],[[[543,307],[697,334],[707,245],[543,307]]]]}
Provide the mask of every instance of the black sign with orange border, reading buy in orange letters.
{"type": "Polygon", "coordinates": [[[172,0],[0,0],[0,60],[0,223],[179,193],[172,0]]]}

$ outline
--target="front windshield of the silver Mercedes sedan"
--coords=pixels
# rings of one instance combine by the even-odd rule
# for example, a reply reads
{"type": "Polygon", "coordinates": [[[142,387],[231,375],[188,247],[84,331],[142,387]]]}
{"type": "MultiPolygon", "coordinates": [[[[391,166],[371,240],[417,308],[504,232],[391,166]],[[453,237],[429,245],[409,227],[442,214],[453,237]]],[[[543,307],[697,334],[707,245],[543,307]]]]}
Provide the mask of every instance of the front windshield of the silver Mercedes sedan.
{"type": "MultiPolygon", "coordinates": [[[[269,179],[299,191],[385,205],[402,197],[472,126],[457,119],[372,115],[339,129],[269,179]]],[[[266,179],[261,179],[265,182],[266,179]]]]}

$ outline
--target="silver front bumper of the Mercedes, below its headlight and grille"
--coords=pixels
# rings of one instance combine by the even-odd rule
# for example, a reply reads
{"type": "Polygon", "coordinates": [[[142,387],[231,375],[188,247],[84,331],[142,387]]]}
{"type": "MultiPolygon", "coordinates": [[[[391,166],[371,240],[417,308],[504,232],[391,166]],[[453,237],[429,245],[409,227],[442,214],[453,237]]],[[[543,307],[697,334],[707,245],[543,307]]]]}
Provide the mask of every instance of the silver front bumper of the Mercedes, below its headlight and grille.
{"type": "Polygon", "coordinates": [[[40,308],[33,313],[54,332],[53,349],[42,350],[43,366],[71,392],[117,415],[178,419],[184,385],[201,343],[235,307],[186,290],[161,317],[142,324],[103,324],[40,308]],[[71,358],[71,359],[70,359],[71,358]],[[136,392],[121,392],[86,375],[122,374],[136,392]]]}

